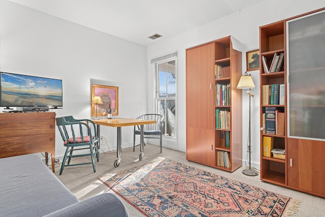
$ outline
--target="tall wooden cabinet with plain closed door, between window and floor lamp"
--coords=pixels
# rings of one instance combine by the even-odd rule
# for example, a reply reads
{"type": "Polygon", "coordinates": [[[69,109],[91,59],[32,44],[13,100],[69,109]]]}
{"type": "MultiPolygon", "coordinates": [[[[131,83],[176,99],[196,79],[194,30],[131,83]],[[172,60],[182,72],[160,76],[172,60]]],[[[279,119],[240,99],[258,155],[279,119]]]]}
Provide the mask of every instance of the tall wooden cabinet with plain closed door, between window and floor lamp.
{"type": "Polygon", "coordinates": [[[233,172],[242,165],[241,52],[231,37],[186,49],[186,159],[233,172]],[[230,73],[219,78],[217,66],[230,73]],[[217,104],[217,85],[229,85],[228,105],[217,104]],[[230,113],[228,129],[216,127],[216,110],[230,113]],[[238,124],[240,123],[240,124],[238,124]],[[229,145],[225,145],[225,132],[229,145]],[[219,165],[228,156],[228,166],[219,165]],[[222,159],[221,159],[222,158],[222,159]]]}

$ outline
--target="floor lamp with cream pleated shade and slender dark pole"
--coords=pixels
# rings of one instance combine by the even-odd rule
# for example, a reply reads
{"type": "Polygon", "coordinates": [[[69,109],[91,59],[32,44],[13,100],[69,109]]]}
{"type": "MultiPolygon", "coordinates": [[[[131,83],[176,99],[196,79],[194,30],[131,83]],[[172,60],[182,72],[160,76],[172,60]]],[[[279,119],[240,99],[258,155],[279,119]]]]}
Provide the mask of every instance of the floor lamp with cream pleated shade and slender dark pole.
{"type": "Polygon", "coordinates": [[[254,97],[254,95],[251,94],[250,89],[255,88],[254,81],[252,79],[252,76],[248,75],[247,72],[243,76],[240,77],[237,88],[240,89],[248,89],[247,94],[249,95],[249,127],[248,127],[248,152],[249,152],[249,168],[246,168],[243,170],[243,174],[249,175],[249,176],[255,176],[257,175],[257,172],[250,167],[250,150],[251,150],[251,143],[250,143],[250,107],[251,107],[251,97],[254,97]]]}

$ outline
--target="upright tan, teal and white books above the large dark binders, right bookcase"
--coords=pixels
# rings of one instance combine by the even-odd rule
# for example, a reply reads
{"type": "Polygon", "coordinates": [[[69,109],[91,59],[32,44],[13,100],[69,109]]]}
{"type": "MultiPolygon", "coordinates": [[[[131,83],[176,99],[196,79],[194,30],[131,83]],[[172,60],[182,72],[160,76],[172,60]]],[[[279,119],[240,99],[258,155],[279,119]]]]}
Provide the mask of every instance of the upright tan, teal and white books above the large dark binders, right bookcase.
{"type": "Polygon", "coordinates": [[[262,105],[284,105],[284,84],[262,85],[262,105]]]}

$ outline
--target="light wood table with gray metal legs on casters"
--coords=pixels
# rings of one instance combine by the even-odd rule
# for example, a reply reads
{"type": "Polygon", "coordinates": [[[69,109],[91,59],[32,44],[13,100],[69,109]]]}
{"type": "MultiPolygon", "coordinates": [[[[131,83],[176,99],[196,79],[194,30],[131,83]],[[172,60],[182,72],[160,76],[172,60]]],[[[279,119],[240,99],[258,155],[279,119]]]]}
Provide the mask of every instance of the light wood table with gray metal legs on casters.
{"type": "MultiPolygon", "coordinates": [[[[100,126],[108,126],[117,128],[117,144],[116,144],[116,152],[117,159],[114,162],[114,167],[118,167],[121,161],[121,127],[125,126],[136,126],[140,125],[140,155],[139,160],[141,161],[143,158],[143,125],[148,125],[150,123],[156,123],[155,120],[139,120],[132,118],[113,118],[113,119],[100,119],[100,120],[92,120],[97,125],[97,136],[99,141],[101,140],[101,129],[100,126]]],[[[99,142],[100,143],[100,142],[99,142]]],[[[99,144],[100,148],[100,144],[99,144]]]]}

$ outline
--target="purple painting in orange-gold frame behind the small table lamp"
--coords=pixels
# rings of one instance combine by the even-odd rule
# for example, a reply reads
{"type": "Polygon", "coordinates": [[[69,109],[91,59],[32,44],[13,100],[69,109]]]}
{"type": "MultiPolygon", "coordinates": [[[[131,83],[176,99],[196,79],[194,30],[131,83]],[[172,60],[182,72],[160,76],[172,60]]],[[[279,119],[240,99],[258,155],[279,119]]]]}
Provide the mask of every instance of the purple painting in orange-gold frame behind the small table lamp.
{"type": "Polygon", "coordinates": [[[100,97],[103,101],[103,104],[90,103],[91,116],[106,116],[110,105],[111,105],[112,114],[118,115],[118,86],[91,84],[90,102],[94,97],[100,97]],[[96,105],[98,105],[97,115],[96,115],[96,105]],[[101,113],[102,109],[106,109],[106,114],[103,115],[101,113]],[[113,109],[115,109],[114,113],[113,113],[113,109]]]}

